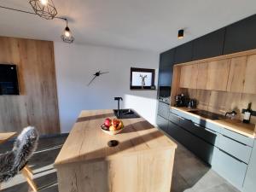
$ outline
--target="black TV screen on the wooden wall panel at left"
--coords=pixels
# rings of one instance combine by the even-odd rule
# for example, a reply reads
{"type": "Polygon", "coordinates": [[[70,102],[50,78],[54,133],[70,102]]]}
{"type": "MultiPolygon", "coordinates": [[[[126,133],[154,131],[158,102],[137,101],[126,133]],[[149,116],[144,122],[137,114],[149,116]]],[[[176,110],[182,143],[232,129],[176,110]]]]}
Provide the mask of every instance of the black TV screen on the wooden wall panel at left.
{"type": "Polygon", "coordinates": [[[17,67],[0,64],[0,95],[19,95],[17,67]]]}

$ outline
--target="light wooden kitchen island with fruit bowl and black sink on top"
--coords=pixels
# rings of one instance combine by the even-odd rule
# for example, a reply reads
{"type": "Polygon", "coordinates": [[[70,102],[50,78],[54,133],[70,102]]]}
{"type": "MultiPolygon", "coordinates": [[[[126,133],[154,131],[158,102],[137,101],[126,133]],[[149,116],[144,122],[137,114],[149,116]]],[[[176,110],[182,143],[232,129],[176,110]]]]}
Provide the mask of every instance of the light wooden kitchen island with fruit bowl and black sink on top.
{"type": "Polygon", "coordinates": [[[143,118],[104,133],[113,110],[82,111],[55,160],[60,192],[169,192],[177,144],[143,118]],[[119,141],[108,147],[110,140],[119,141]]]}

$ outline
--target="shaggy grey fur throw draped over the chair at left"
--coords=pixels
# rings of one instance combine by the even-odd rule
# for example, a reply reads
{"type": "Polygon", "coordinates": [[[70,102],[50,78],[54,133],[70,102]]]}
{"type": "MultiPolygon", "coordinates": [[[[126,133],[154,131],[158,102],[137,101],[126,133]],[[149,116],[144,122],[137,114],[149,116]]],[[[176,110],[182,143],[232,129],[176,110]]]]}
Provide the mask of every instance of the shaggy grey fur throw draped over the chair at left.
{"type": "Polygon", "coordinates": [[[38,131],[32,127],[26,127],[17,137],[14,148],[5,154],[0,154],[0,183],[9,181],[26,166],[27,160],[38,147],[38,131]]]}

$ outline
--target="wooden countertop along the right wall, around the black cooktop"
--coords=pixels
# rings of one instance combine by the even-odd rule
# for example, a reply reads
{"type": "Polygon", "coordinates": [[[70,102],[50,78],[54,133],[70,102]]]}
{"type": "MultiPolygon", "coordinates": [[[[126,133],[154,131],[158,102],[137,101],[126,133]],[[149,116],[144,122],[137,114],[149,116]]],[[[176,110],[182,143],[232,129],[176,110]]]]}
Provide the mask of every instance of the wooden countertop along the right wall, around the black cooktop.
{"type": "Polygon", "coordinates": [[[207,118],[201,117],[200,115],[197,115],[195,113],[189,113],[189,111],[192,111],[192,110],[196,111],[198,109],[177,108],[177,107],[171,107],[171,108],[181,111],[183,113],[187,113],[189,115],[195,116],[196,118],[204,119],[208,122],[222,126],[230,131],[235,131],[235,132],[237,132],[241,135],[244,135],[246,137],[256,138],[256,127],[254,124],[243,124],[240,120],[236,120],[236,119],[212,120],[212,119],[207,119],[207,118]]]}

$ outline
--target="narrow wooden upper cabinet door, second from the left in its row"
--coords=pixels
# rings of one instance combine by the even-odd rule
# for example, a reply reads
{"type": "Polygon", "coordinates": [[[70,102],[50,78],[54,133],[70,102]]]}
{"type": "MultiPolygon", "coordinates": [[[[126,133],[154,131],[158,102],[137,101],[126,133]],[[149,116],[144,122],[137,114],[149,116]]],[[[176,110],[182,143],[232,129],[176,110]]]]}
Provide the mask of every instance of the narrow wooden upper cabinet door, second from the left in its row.
{"type": "Polygon", "coordinates": [[[198,75],[197,75],[197,84],[196,88],[199,90],[208,90],[207,89],[207,78],[208,77],[208,63],[199,63],[198,64],[198,75]]]}

